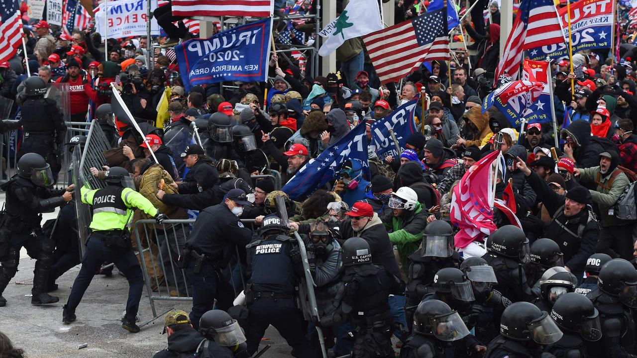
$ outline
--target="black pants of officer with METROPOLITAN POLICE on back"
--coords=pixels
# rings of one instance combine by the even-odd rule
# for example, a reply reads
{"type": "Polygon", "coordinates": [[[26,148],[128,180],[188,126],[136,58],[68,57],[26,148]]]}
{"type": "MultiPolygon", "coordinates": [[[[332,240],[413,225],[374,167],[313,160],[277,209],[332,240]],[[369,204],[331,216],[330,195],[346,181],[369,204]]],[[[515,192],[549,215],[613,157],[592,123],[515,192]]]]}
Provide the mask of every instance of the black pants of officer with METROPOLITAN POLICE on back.
{"type": "Polygon", "coordinates": [[[296,308],[294,299],[257,298],[250,304],[249,310],[249,324],[245,327],[249,354],[257,352],[261,338],[272,325],[294,349],[297,357],[315,357],[305,336],[307,325],[303,313],[296,308]]]}

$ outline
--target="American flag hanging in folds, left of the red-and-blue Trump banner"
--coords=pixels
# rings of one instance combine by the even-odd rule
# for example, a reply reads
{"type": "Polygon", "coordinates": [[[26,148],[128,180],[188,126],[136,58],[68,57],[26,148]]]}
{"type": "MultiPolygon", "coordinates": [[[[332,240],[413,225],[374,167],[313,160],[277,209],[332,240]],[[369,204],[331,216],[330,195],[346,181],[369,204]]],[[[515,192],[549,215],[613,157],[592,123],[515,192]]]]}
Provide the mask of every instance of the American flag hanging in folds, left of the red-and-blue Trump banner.
{"type": "Polygon", "coordinates": [[[522,0],[513,30],[506,39],[496,78],[506,73],[516,80],[524,50],[564,42],[564,32],[553,0],[522,0]]]}

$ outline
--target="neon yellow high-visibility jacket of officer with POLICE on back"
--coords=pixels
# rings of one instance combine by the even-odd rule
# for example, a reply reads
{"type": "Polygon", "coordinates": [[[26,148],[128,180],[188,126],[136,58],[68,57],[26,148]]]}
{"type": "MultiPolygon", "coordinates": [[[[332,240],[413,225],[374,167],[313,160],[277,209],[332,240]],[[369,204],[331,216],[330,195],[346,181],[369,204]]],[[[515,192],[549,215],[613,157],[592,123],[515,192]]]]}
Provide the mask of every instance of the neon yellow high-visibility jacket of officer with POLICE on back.
{"type": "MultiPolygon", "coordinates": [[[[87,187],[80,189],[80,195],[82,195],[82,203],[92,205],[96,192],[101,189],[91,190],[87,187]]],[[[124,205],[128,208],[125,215],[116,213],[114,211],[100,211],[93,213],[93,221],[90,222],[90,229],[93,231],[105,231],[105,230],[122,230],[132,220],[131,208],[139,208],[151,217],[155,217],[159,211],[153,206],[148,199],[143,197],[140,193],[130,188],[124,188],[121,195],[124,205]]]]}

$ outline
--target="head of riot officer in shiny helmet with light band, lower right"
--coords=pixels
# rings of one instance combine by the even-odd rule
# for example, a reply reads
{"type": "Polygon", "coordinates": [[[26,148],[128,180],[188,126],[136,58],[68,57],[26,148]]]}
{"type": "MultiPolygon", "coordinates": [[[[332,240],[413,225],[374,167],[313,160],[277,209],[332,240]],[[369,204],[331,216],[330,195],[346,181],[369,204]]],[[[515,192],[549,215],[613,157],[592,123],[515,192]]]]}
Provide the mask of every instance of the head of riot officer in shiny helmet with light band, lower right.
{"type": "Polygon", "coordinates": [[[559,296],[568,292],[575,292],[577,277],[562,267],[547,269],[538,281],[540,295],[533,304],[540,310],[550,312],[551,307],[559,296]]]}

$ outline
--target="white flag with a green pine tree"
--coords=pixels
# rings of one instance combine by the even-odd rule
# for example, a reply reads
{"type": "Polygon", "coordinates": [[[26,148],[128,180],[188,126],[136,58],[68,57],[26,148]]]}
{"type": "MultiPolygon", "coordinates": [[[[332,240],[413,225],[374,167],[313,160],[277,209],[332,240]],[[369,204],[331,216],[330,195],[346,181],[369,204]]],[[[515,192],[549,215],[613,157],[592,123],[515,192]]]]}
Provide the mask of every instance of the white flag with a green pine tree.
{"type": "Polygon", "coordinates": [[[382,30],[380,10],[376,0],[351,0],[341,15],[318,32],[325,38],[318,54],[327,56],[343,45],[345,40],[365,36],[374,31],[382,30]]]}

